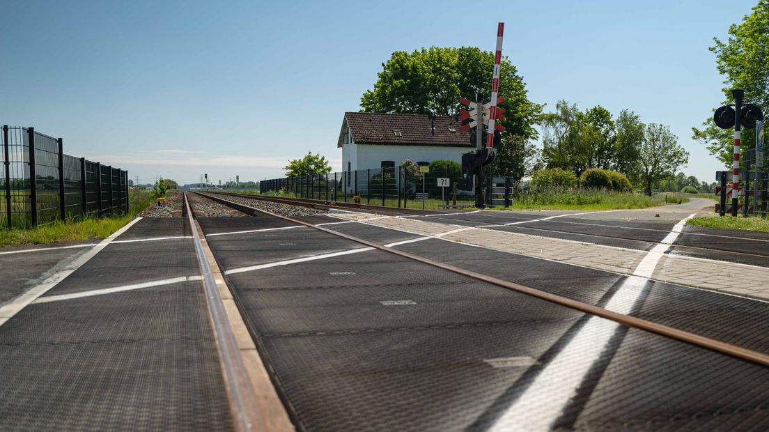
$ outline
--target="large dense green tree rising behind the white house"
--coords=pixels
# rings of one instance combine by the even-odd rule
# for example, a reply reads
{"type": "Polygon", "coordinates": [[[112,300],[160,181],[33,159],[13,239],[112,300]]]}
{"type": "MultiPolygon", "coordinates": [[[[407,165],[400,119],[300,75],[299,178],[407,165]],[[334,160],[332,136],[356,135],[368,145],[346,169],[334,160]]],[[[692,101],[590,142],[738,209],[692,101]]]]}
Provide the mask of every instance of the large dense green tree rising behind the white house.
{"type": "MultiPolygon", "coordinates": [[[[393,52],[382,63],[372,90],[361,97],[361,110],[396,114],[456,115],[459,98],[491,95],[494,53],[474,47],[421,48],[393,52]]],[[[504,97],[506,133],[537,138],[534,128],[542,106],[528,100],[523,77],[511,61],[501,61],[499,92],[504,97]]]]}

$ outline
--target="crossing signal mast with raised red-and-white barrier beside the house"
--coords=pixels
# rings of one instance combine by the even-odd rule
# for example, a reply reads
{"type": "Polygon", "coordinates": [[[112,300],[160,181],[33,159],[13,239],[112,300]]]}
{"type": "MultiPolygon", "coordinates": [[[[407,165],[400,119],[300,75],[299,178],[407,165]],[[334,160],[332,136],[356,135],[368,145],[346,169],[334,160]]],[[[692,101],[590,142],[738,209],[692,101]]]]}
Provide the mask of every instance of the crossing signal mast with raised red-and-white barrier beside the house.
{"type": "Polygon", "coordinates": [[[478,208],[484,208],[483,167],[491,164],[496,158],[497,152],[494,145],[499,144],[500,132],[504,131],[504,126],[496,123],[498,120],[504,120],[504,108],[498,106],[504,101],[504,98],[498,96],[503,34],[504,22],[500,22],[497,25],[497,49],[494,52],[491,101],[484,104],[481,93],[476,93],[474,102],[466,98],[459,98],[459,103],[468,107],[468,109],[461,108],[459,110],[459,120],[462,121],[462,127],[459,128],[459,131],[470,131],[470,142],[475,145],[475,151],[462,155],[464,178],[459,181],[459,188],[471,189],[473,179],[475,180],[475,206],[478,208]],[[488,125],[485,147],[483,145],[483,125],[488,125]]]}

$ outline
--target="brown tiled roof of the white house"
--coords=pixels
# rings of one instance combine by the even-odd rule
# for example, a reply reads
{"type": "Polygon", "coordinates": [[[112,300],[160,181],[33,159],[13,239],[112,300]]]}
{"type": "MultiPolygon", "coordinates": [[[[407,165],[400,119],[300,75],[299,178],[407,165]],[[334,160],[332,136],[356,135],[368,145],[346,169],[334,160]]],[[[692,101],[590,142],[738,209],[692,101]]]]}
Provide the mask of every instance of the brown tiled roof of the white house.
{"type": "MultiPolygon", "coordinates": [[[[356,144],[441,145],[473,147],[468,132],[460,132],[461,121],[453,117],[436,117],[435,132],[431,131],[429,115],[382,114],[375,112],[346,112],[352,139],[356,144]],[[454,128],[455,132],[449,130],[454,128]],[[400,136],[395,132],[400,132],[400,136]]],[[[345,125],[342,124],[338,147],[342,145],[345,125]]]]}

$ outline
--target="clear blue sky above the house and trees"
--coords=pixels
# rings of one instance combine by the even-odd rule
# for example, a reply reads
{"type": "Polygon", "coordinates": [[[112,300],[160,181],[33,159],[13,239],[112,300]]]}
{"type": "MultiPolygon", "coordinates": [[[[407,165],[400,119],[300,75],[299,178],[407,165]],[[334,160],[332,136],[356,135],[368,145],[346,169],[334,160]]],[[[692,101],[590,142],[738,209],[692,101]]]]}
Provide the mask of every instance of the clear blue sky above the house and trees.
{"type": "Polygon", "coordinates": [[[707,47],[755,3],[8,0],[0,122],[142,183],[275,178],[308,151],[338,170],[342,115],[391,52],[491,51],[504,22],[532,101],[670,125],[691,153],[684,172],[711,182],[720,165],[691,140],[723,99],[707,47]]]}

